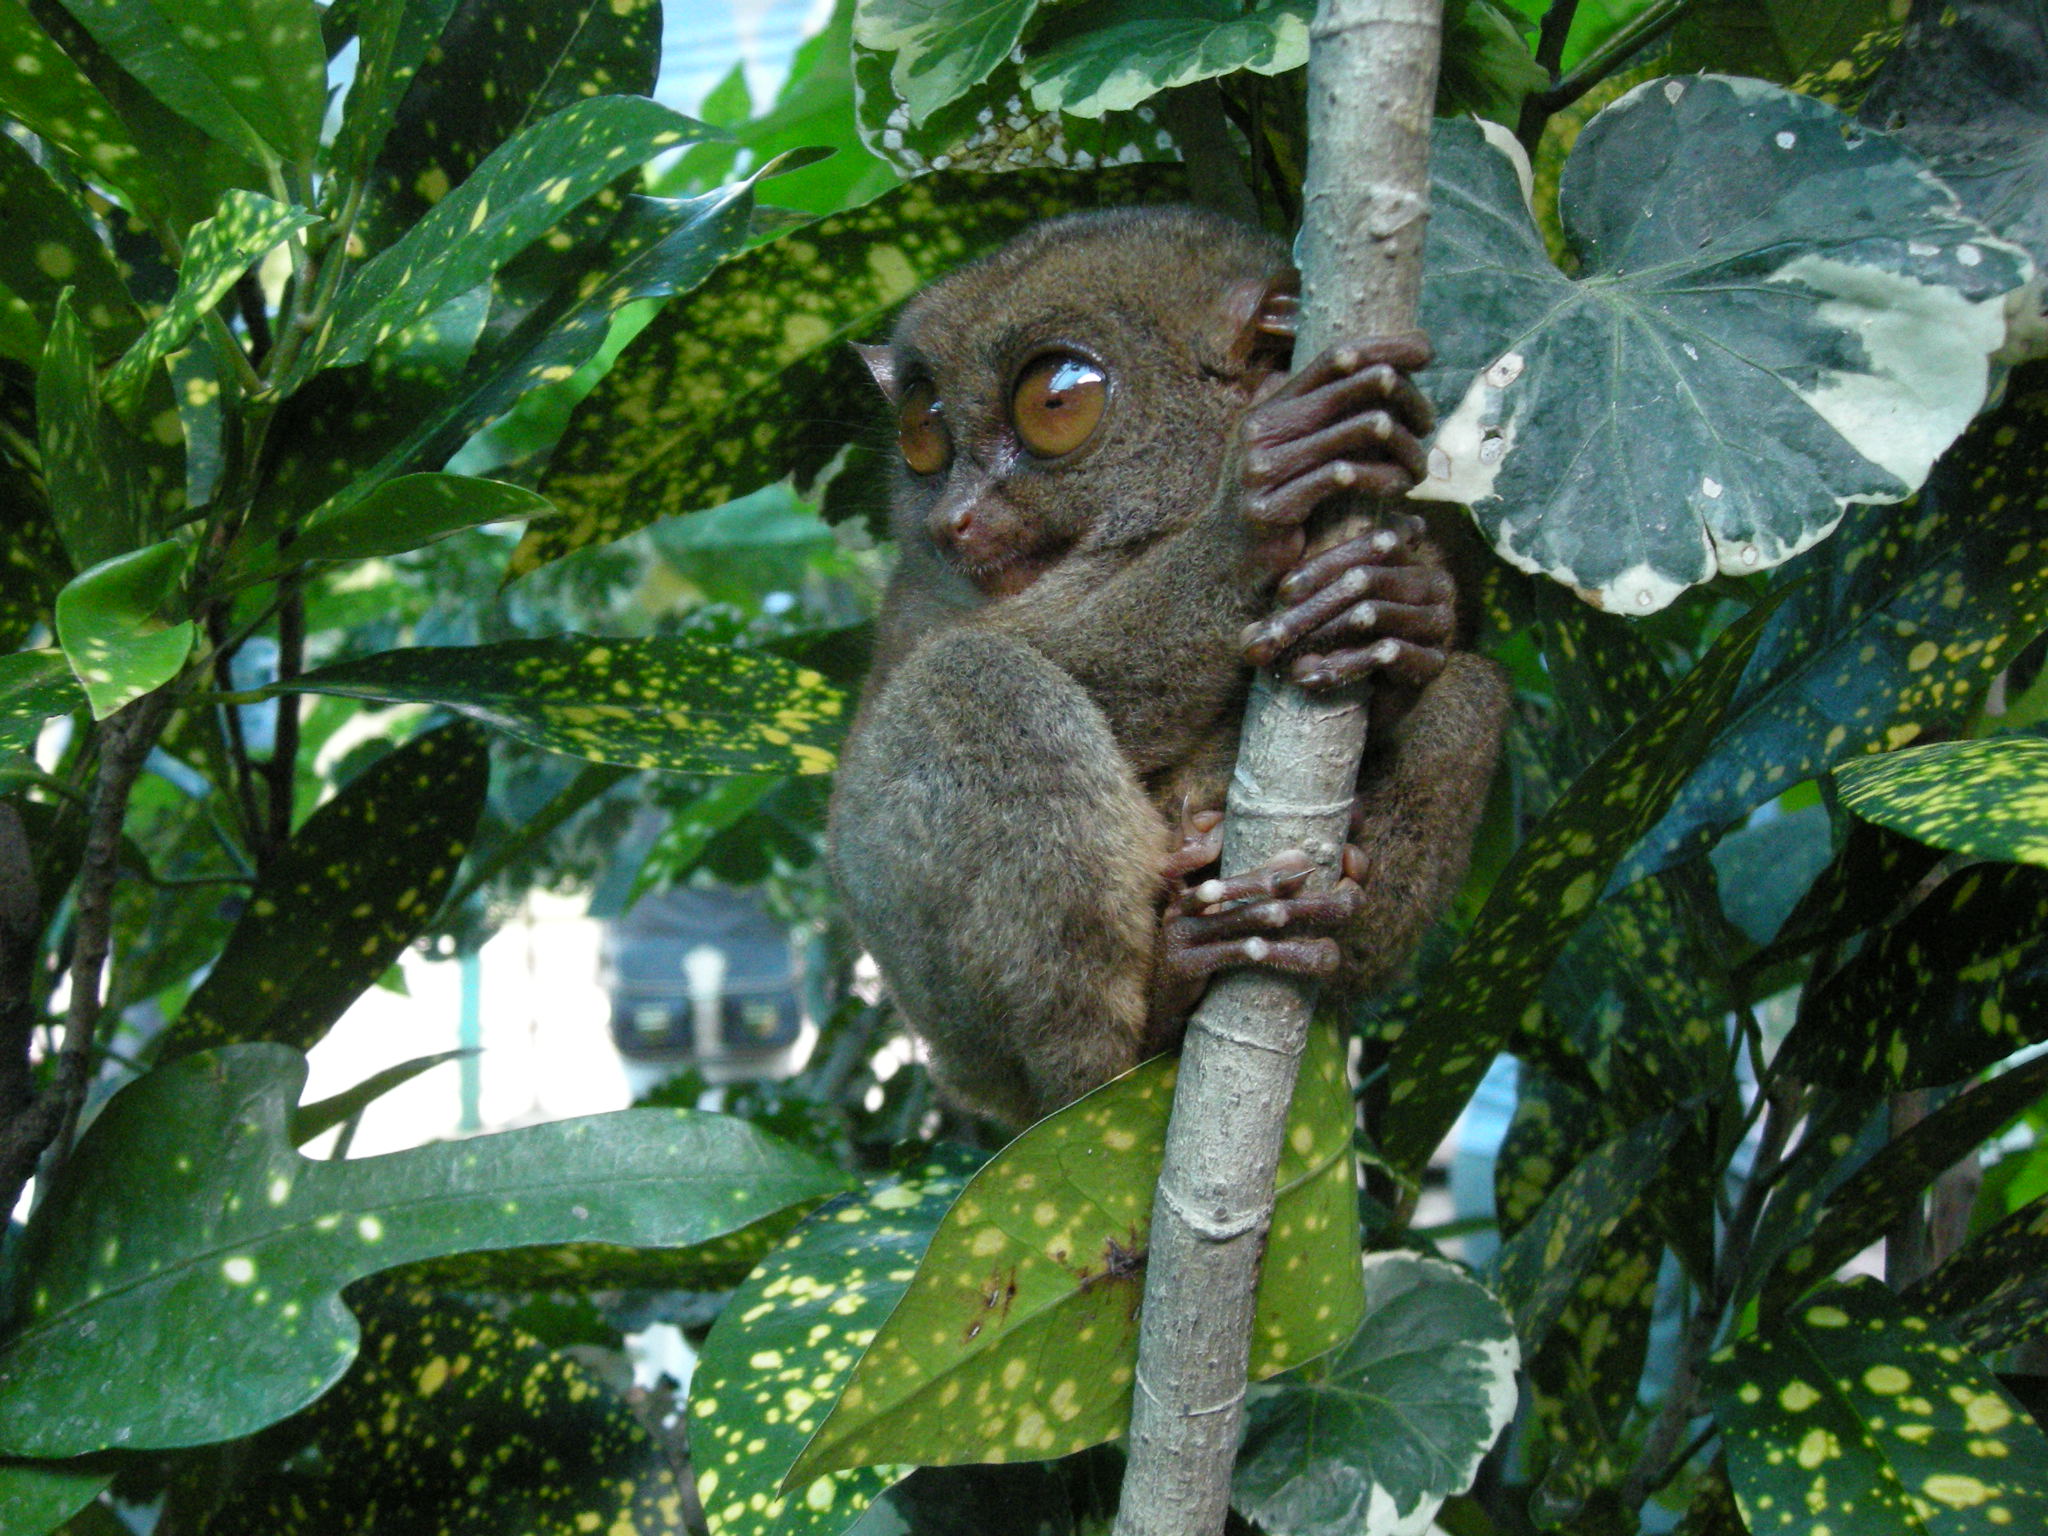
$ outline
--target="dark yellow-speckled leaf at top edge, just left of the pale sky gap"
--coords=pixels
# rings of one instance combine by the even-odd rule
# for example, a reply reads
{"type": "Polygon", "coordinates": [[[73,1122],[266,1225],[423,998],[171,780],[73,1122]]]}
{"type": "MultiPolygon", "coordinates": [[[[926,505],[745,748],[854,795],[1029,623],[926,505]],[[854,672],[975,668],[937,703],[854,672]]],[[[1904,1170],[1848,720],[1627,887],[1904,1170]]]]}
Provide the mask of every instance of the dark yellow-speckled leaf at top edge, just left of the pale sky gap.
{"type": "MultiPolygon", "coordinates": [[[[446,0],[430,6],[446,10],[446,0]]],[[[369,248],[418,223],[492,150],[549,113],[586,96],[651,96],[659,57],[657,0],[463,0],[377,158],[356,225],[369,248]]]]}

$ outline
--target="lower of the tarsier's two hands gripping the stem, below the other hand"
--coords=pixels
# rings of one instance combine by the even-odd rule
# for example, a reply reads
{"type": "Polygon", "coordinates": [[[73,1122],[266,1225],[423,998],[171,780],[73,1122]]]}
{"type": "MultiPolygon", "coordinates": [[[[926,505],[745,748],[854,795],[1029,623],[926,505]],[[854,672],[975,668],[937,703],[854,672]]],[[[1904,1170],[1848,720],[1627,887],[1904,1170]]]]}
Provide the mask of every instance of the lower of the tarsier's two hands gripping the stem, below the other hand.
{"type": "Polygon", "coordinates": [[[1286,657],[1303,688],[1337,688],[1382,678],[1421,688],[1444,670],[1456,633],[1456,586],[1423,563],[1423,520],[1399,514],[1389,526],[1300,561],[1280,582],[1274,614],[1243,633],[1245,659],[1286,657]]]}

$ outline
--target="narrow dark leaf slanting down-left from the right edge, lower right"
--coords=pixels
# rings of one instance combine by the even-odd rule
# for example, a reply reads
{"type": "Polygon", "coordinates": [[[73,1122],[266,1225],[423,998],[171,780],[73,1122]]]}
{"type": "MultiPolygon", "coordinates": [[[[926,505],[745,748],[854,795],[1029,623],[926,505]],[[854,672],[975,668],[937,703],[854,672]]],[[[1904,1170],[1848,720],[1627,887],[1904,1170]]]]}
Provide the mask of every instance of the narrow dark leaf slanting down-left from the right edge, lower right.
{"type": "Polygon", "coordinates": [[[1765,1227],[1784,1231],[1784,1262],[1769,1278],[1765,1313],[1792,1305],[1815,1280],[1835,1274],[1884,1237],[1907,1210],[1917,1210],[1921,1192],[1976,1147],[2003,1130],[2025,1108],[2048,1094],[2048,1057],[2013,1067],[1989,1083],[1952,1098],[1896,1141],[1884,1143],[1860,1167],[1837,1153],[1841,1178],[1833,1188],[1802,1192],[1804,1198],[1780,1208],[1774,1198],[1765,1227]],[[1825,1204],[1821,1196],[1825,1194],[1825,1204]]]}

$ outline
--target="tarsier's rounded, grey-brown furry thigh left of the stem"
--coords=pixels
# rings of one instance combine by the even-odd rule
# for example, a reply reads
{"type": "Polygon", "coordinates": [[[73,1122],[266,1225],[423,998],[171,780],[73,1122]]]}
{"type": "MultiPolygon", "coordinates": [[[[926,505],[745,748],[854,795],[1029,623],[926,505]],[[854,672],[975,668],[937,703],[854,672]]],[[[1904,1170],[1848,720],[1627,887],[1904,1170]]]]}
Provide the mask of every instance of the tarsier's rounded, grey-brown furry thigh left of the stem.
{"type": "Polygon", "coordinates": [[[1032,647],[963,629],[864,713],[836,866],[948,1094],[1022,1124],[1133,1067],[1171,838],[1096,705],[1032,647]]]}

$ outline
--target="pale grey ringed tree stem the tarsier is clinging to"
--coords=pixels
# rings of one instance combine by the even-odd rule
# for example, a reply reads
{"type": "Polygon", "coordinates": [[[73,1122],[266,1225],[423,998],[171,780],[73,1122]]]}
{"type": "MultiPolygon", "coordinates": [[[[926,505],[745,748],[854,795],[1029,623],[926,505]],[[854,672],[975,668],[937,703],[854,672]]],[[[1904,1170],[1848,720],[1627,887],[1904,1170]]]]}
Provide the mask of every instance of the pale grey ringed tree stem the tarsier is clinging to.
{"type": "MultiPolygon", "coordinates": [[[[1440,33],[1442,0],[1321,0],[1296,246],[1303,362],[1343,338],[1415,328],[1440,33]]],[[[1331,883],[1364,743],[1362,692],[1309,698],[1262,672],[1223,870],[1303,848],[1331,883]]],[[[1188,1024],[1153,1200],[1116,1536],[1204,1536],[1229,1513],[1257,1262],[1313,1008],[1313,985],[1233,971],[1188,1024]]]]}

